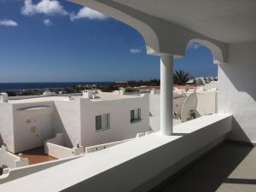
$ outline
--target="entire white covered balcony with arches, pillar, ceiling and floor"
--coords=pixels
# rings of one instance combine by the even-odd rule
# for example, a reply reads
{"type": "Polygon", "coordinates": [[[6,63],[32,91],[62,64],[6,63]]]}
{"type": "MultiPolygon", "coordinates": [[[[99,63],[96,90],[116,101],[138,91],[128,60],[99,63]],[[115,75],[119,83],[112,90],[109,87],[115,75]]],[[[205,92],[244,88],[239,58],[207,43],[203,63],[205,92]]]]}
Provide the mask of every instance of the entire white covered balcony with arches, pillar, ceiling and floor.
{"type": "Polygon", "coordinates": [[[256,141],[256,3],[70,1],[134,27],[148,54],[160,56],[160,132],[26,174],[0,191],[255,191],[255,149],[224,140],[256,141]],[[189,41],[211,49],[218,64],[218,113],[172,126],[173,60],[189,41]]]}

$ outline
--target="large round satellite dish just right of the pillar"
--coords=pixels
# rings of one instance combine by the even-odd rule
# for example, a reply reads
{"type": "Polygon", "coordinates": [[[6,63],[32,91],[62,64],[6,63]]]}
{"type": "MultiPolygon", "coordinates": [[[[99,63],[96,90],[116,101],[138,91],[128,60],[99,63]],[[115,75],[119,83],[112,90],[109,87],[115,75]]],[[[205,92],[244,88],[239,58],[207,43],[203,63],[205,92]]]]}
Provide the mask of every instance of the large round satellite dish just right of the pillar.
{"type": "Polygon", "coordinates": [[[197,96],[195,93],[190,94],[183,102],[180,118],[182,122],[195,119],[195,109],[197,107],[197,96]]]}

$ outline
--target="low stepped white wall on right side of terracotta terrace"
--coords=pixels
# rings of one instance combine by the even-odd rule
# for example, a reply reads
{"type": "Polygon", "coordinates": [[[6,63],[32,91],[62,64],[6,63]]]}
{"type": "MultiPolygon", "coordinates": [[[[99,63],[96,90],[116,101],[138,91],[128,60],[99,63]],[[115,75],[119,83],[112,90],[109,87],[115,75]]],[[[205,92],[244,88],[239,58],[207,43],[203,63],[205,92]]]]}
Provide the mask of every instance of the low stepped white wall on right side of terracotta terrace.
{"type": "Polygon", "coordinates": [[[73,157],[79,154],[84,154],[84,147],[79,146],[76,148],[64,147],[63,133],[57,133],[54,138],[47,140],[44,143],[44,153],[49,154],[57,159],[73,157]]]}

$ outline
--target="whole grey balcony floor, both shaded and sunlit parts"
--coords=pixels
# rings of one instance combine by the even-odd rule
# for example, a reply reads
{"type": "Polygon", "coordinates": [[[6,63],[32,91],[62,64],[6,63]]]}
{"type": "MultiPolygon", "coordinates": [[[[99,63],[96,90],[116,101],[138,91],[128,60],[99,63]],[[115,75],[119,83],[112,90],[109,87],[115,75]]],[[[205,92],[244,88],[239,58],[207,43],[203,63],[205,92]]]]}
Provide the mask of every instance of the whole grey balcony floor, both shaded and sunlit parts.
{"type": "Polygon", "coordinates": [[[150,192],[256,191],[256,148],[223,143],[150,192]]]}

